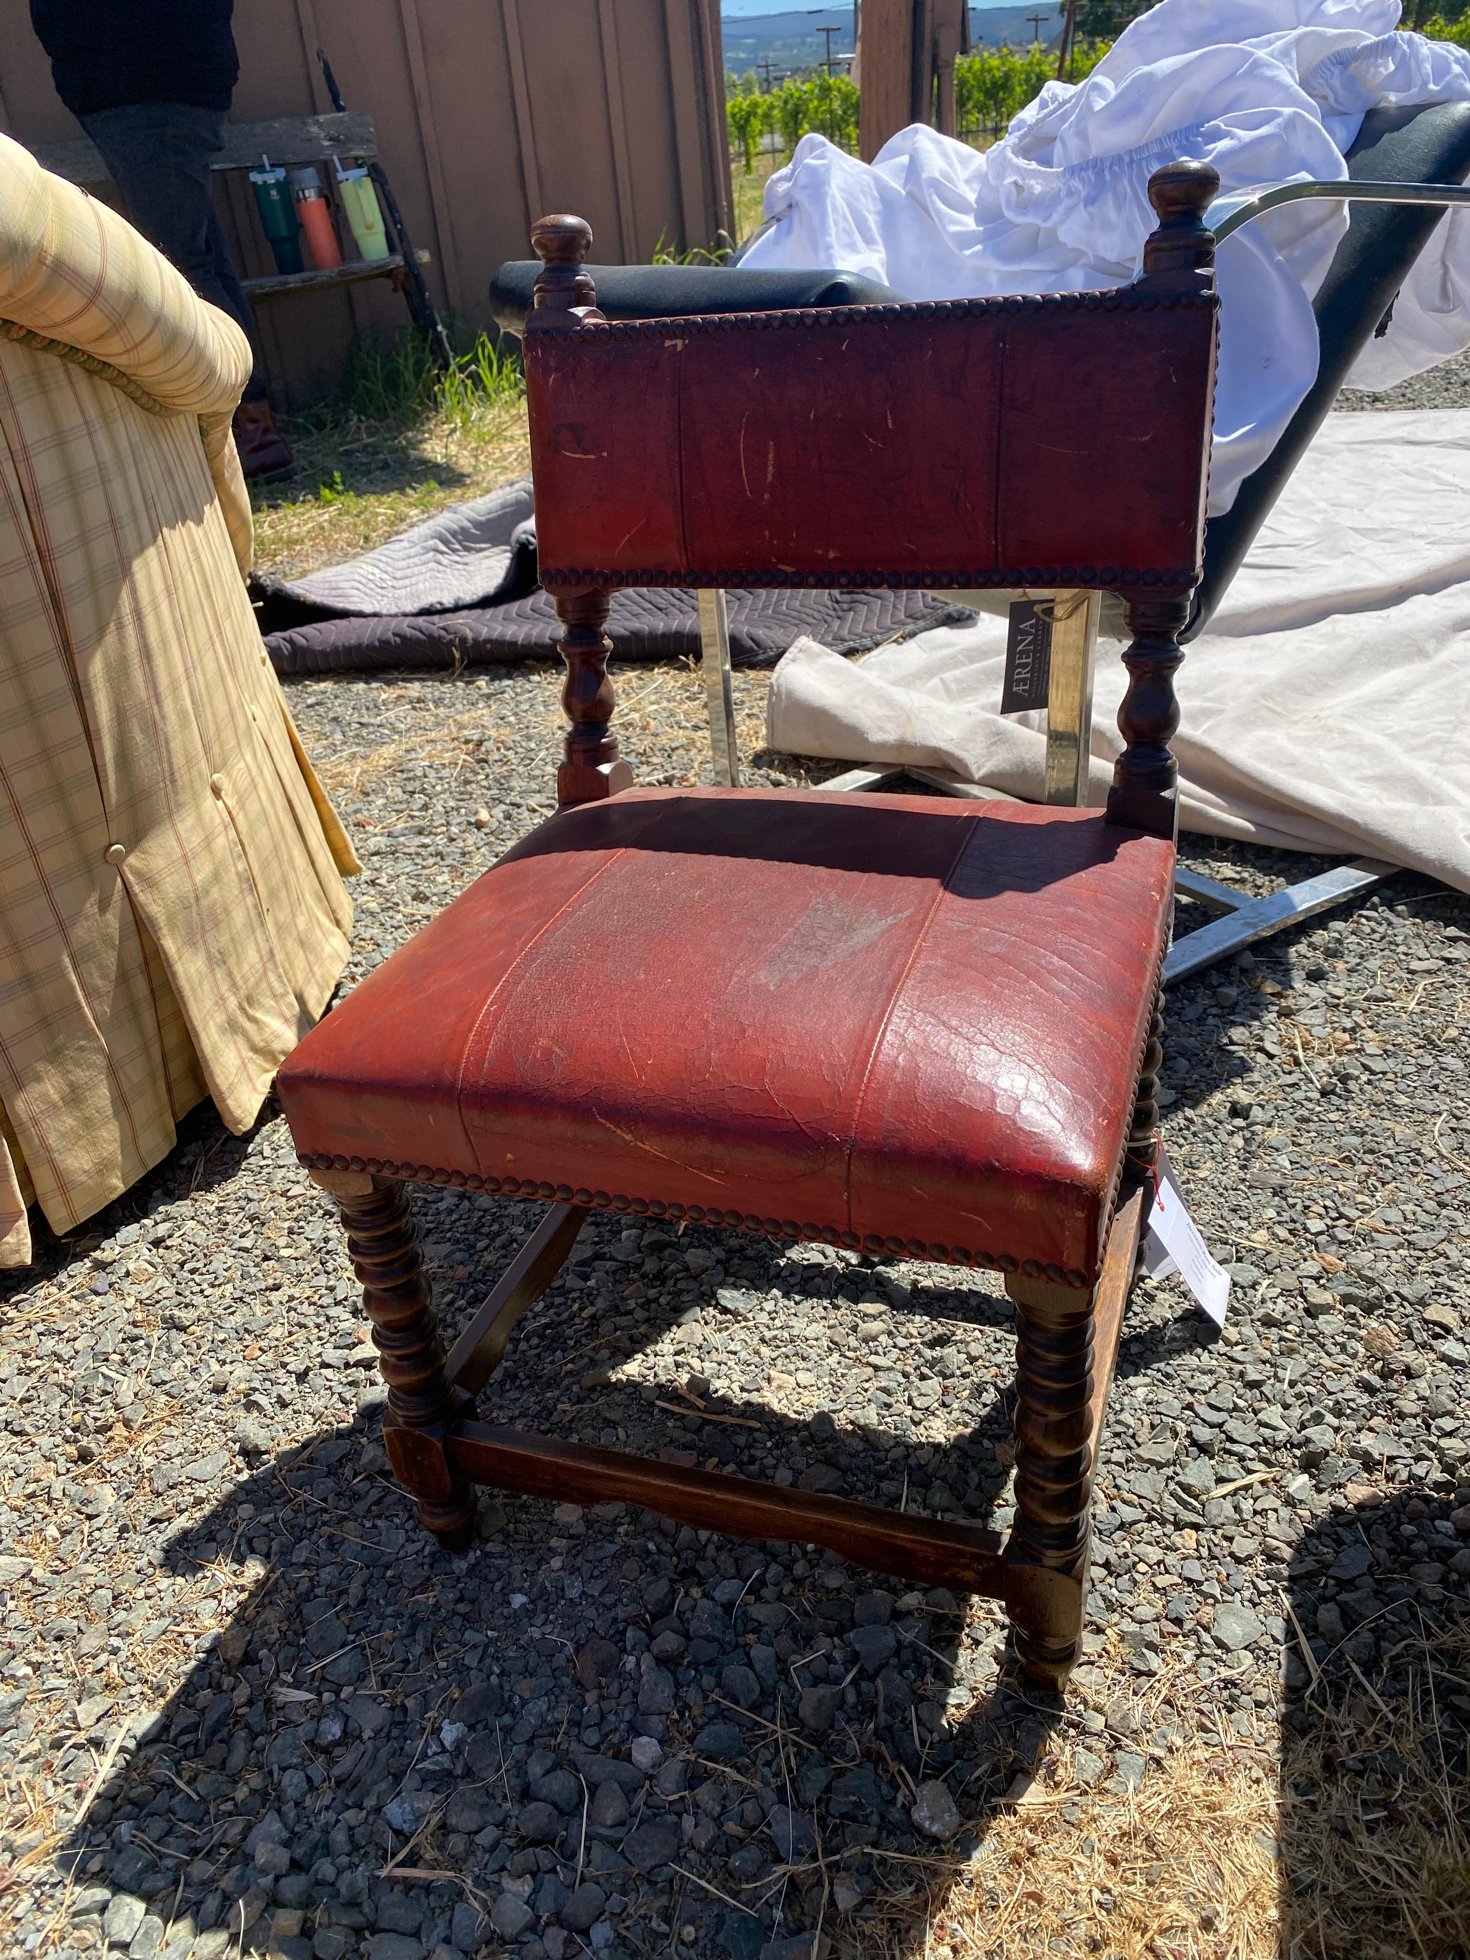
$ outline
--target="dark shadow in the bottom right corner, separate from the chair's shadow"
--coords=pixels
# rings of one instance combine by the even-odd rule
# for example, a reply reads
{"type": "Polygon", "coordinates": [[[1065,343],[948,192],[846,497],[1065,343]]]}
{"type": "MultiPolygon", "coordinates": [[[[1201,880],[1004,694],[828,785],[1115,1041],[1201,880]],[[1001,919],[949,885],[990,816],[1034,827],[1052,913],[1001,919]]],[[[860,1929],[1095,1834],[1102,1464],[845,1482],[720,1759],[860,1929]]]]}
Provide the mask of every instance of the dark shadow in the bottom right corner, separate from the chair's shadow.
{"type": "Polygon", "coordinates": [[[1450,1507],[1413,1484],[1345,1499],[1292,1560],[1278,1813],[1290,1960],[1470,1954],[1470,1572],[1452,1570],[1470,1541],[1435,1529],[1450,1507]]]}

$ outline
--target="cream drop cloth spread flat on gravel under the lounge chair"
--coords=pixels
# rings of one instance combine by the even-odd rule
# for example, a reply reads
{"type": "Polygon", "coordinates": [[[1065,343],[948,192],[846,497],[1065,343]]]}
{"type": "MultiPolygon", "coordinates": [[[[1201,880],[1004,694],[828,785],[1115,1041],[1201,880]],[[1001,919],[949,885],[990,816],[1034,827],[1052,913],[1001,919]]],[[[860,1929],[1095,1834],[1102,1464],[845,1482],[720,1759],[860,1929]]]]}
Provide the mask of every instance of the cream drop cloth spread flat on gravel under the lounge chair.
{"type": "MultiPolygon", "coordinates": [[[[1180,823],[1390,858],[1470,892],[1470,416],[1335,414],[1178,674],[1180,823]]],[[[1098,645],[1090,802],[1127,684],[1098,645]]],[[[1045,715],[1000,715],[1005,621],[770,678],[788,755],[913,762],[1039,802],[1045,715]]]]}

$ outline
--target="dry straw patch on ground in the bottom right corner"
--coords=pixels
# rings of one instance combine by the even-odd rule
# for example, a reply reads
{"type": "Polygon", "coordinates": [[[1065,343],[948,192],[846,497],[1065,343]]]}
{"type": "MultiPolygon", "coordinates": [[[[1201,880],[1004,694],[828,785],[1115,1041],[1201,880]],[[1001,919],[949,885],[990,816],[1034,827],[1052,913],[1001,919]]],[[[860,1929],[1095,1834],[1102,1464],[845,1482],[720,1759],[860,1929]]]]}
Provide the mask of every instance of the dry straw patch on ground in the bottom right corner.
{"type": "Polygon", "coordinates": [[[894,1874],[864,1960],[1470,1954],[1470,1791],[1446,1723],[1470,1688],[1468,1625],[1415,1635],[1372,1678],[1282,1691],[1249,1739],[1190,1674],[1137,1682],[1111,1642],[1100,1658],[1088,1699],[1127,1737],[1172,1711],[1168,1760],[1133,1791],[1082,1789],[1072,1746],[1088,1739],[1064,1719],[966,1866],[894,1874]]]}

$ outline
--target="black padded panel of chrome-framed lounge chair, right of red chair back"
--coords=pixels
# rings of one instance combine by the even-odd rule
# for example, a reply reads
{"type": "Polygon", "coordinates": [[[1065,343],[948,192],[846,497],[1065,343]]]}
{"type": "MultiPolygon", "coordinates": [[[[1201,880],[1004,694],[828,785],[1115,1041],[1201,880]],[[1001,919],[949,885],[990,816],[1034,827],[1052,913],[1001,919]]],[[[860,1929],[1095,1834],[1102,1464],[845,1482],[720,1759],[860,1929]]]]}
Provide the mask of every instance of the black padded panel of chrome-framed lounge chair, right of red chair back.
{"type": "MultiPolygon", "coordinates": [[[[1470,104],[1370,110],[1348,151],[1348,176],[1380,184],[1462,184],[1470,174],[1470,104]]],[[[1219,606],[1256,531],[1282,494],[1301,453],[1337,400],[1360,349],[1374,333],[1413,261],[1445,220],[1433,204],[1348,204],[1350,223],[1333,253],[1311,310],[1321,361],[1317,380],[1280,441],[1247,480],[1223,517],[1205,531],[1205,576],[1182,639],[1194,639],[1219,606]]]]}

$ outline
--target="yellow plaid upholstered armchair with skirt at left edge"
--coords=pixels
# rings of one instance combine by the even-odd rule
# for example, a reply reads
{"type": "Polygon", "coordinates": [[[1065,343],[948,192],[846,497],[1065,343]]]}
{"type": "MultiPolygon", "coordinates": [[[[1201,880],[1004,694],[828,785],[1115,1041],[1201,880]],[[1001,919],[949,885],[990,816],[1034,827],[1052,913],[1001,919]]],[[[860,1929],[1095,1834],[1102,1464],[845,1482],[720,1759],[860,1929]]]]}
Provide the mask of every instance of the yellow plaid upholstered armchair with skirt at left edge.
{"type": "Polygon", "coordinates": [[[357,860],[243,584],[249,365],[0,137],[0,1264],[206,1096],[247,1129],[347,958],[357,860]]]}

